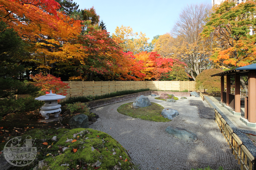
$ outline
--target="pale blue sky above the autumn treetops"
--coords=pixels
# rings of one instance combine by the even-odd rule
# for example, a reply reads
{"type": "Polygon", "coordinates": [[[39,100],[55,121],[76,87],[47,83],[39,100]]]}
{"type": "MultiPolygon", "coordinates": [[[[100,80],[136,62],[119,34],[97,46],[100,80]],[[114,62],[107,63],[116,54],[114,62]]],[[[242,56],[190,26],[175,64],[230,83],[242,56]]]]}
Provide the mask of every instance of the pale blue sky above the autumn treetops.
{"type": "Polygon", "coordinates": [[[94,6],[110,35],[115,32],[116,26],[130,26],[133,32],[146,33],[146,37],[150,38],[148,42],[151,42],[153,36],[157,34],[163,35],[170,32],[184,5],[211,4],[211,0],[73,0],[73,2],[79,4],[80,9],[94,6]]]}

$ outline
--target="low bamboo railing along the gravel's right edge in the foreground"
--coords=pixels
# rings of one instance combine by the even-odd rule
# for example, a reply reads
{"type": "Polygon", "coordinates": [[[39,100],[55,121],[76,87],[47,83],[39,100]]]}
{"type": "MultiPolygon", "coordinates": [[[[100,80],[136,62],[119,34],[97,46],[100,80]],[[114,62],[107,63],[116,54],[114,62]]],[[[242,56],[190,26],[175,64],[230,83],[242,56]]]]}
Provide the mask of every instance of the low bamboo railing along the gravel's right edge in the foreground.
{"type": "Polygon", "coordinates": [[[233,129],[227,124],[220,113],[215,109],[215,122],[218,124],[222,135],[225,137],[226,142],[230,149],[232,149],[232,154],[235,155],[235,159],[238,160],[240,168],[243,170],[252,170],[254,168],[255,158],[243,145],[241,139],[233,132],[233,129]]]}

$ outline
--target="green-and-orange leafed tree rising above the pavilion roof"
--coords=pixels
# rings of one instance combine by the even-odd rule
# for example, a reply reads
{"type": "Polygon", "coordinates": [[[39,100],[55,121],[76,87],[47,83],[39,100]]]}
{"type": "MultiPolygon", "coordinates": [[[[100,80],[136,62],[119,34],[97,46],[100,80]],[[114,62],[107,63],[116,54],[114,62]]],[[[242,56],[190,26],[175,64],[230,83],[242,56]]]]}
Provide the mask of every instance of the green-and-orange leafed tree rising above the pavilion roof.
{"type": "MultiPolygon", "coordinates": [[[[216,38],[218,44],[210,59],[216,67],[232,68],[246,66],[256,60],[256,35],[254,32],[256,2],[236,3],[225,1],[208,18],[202,35],[216,38]]],[[[244,80],[240,78],[244,89],[244,80]]]]}

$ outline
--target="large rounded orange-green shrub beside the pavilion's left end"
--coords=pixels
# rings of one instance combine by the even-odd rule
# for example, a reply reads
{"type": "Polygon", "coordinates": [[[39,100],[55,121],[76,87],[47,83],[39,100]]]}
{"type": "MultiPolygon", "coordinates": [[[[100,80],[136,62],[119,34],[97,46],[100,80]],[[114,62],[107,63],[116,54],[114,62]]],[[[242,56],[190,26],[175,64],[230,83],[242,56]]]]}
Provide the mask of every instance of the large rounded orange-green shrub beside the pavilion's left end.
{"type": "MultiPolygon", "coordinates": [[[[207,89],[209,94],[220,93],[220,76],[210,75],[220,73],[221,69],[208,69],[196,76],[196,89],[207,89]]],[[[225,80],[225,79],[224,79],[225,80]]]]}

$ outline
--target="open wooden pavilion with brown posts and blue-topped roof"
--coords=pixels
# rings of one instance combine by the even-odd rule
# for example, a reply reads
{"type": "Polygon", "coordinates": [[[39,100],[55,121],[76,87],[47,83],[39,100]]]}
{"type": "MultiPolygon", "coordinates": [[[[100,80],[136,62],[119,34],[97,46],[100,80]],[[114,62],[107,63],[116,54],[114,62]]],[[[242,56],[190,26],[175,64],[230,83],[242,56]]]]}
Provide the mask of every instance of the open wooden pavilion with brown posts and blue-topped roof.
{"type": "Polygon", "coordinates": [[[211,76],[221,76],[221,102],[234,109],[235,112],[240,112],[240,76],[248,76],[248,97],[244,98],[244,118],[249,122],[256,122],[256,64],[238,67],[232,70],[223,71],[211,76]],[[227,91],[224,89],[224,76],[227,79],[227,91]],[[235,78],[234,94],[231,94],[230,77],[235,78]]]}

